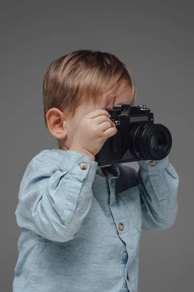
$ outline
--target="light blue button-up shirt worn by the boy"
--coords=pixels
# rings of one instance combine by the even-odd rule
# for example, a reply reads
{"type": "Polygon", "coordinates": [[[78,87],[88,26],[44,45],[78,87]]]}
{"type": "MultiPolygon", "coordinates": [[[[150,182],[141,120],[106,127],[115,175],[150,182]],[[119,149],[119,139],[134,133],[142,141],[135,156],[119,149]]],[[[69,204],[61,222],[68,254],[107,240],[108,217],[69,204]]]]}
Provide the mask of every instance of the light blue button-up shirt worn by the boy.
{"type": "Polygon", "coordinates": [[[13,292],[137,292],[142,229],[169,228],[178,214],[169,157],[138,164],[138,173],[113,164],[105,175],[76,151],[53,148],[32,158],[16,208],[13,292]]]}

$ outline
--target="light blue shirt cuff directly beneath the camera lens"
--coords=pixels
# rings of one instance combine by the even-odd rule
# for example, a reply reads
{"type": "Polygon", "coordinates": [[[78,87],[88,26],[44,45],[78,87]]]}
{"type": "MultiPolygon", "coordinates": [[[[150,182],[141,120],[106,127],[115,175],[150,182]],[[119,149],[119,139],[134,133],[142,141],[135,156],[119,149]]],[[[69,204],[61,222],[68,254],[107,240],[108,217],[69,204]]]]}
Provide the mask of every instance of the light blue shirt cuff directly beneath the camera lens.
{"type": "Polygon", "coordinates": [[[144,170],[163,170],[169,165],[169,156],[167,155],[162,160],[139,160],[137,163],[144,170]],[[156,164],[150,162],[156,162],[156,164]]]}

